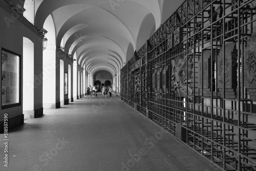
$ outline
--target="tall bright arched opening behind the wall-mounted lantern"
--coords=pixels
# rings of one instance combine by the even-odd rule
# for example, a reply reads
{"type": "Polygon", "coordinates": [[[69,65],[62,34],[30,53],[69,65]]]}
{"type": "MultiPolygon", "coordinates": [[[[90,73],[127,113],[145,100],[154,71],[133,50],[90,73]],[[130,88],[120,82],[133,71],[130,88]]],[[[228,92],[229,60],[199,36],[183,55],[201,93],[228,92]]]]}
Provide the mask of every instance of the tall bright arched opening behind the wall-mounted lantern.
{"type": "MultiPolygon", "coordinates": [[[[46,37],[48,44],[43,51],[42,65],[43,65],[43,106],[44,109],[55,109],[56,106],[56,38],[55,27],[52,15],[49,15],[45,21],[44,28],[48,31],[46,37]]],[[[59,101],[58,101],[59,102],[59,101]]]]}

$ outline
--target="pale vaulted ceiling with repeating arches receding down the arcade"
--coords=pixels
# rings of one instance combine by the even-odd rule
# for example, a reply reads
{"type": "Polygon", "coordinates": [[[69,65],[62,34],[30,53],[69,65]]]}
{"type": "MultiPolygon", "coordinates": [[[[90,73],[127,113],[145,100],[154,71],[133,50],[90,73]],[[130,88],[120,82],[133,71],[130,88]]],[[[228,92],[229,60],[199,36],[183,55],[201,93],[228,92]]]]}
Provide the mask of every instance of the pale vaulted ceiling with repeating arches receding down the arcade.
{"type": "Polygon", "coordinates": [[[56,46],[65,48],[87,71],[94,74],[105,70],[114,75],[180,3],[177,0],[26,0],[24,16],[33,15],[30,22],[40,28],[52,16],[54,34],[46,34],[48,39],[54,35],[56,46]]]}

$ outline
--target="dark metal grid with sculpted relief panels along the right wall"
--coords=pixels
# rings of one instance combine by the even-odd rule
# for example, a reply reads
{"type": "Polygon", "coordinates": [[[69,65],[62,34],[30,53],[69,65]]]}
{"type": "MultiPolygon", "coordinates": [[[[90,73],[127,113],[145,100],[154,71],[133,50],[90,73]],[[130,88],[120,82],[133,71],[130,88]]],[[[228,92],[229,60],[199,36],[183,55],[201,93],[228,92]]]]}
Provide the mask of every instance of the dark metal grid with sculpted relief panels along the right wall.
{"type": "Polygon", "coordinates": [[[256,170],[255,5],[187,0],[121,70],[123,101],[223,170],[256,170]]]}

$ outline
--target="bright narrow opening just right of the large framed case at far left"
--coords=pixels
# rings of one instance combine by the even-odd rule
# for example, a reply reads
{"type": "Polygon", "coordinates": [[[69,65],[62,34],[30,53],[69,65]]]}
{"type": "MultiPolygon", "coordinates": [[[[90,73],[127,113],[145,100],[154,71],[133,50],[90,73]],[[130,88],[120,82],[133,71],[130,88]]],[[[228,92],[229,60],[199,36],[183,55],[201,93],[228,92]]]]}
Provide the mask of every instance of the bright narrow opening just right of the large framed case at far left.
{"type": "MultiPolygon", "coordinates": [[[[37,78],[36,83],[42,83],[37,78]]],[[[23,114],[24,118],[34,118],[34,44],[27,37],[23,37],[23,114]]],[[[39,92],[38,92],[39,93],[39,92]]]]}

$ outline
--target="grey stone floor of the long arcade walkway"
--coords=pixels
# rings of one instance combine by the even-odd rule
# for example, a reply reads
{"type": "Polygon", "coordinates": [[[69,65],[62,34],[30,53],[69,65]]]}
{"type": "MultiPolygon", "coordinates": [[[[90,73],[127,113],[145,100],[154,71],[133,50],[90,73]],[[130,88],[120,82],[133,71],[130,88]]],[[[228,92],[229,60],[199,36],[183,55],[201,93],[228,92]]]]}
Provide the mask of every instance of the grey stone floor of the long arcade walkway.
{"type": "Polygon", "coordinates": [[[9,130],[0,170],[220,170],[118,97],[71,102],[9,130]]]}

